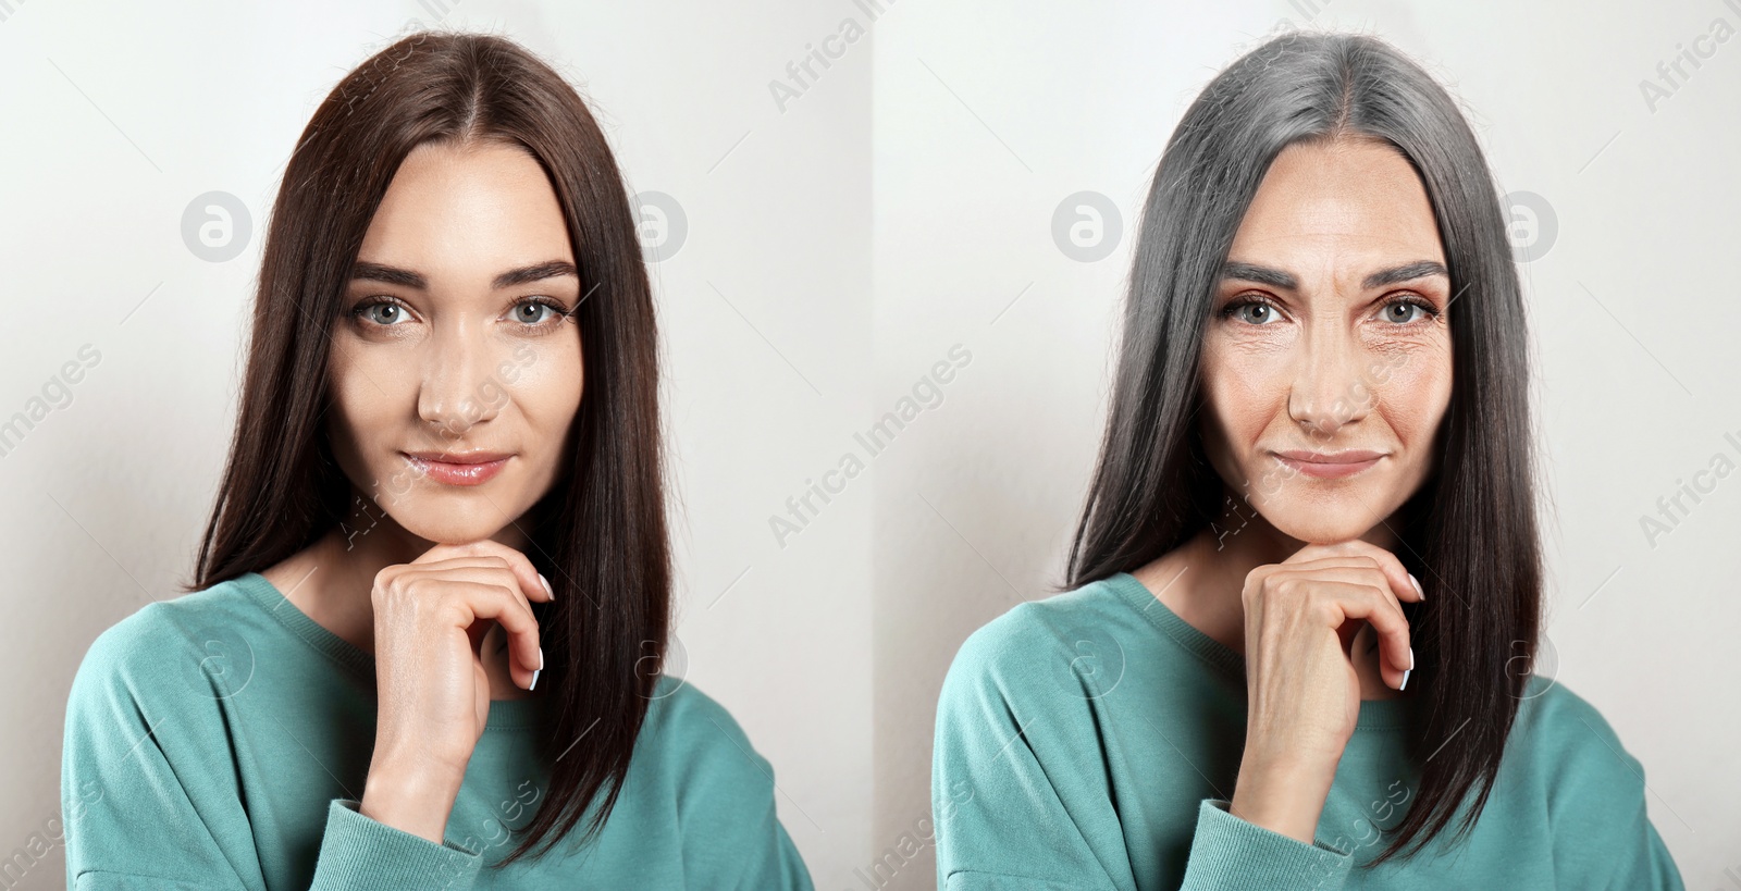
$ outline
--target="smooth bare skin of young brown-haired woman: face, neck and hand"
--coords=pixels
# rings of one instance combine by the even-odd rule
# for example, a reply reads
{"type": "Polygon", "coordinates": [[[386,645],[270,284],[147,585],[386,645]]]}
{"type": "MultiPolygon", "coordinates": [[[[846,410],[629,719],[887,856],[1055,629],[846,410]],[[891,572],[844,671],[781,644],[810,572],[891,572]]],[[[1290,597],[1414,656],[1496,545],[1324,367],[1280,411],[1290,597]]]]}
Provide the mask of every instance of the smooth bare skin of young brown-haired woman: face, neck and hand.
{"type": "Polygon", "coordinates": [[[543,668],[531,602],[552,595],[521,517],[557,482],[580,409],[580,278],[543,169],[500,143],[413,150],[357,259],[364,275],[333,325],[326,433],[360,501],[261,574],[374,654],[360,811],[439,844],[489,701],[543,693],[529,691],[543,668]],[[404,454],[427,451],[512,458],[481,486],[449,486],[404,454]]]}

